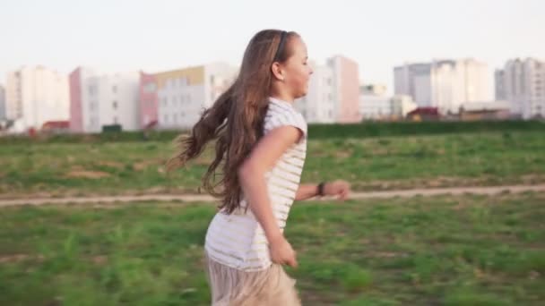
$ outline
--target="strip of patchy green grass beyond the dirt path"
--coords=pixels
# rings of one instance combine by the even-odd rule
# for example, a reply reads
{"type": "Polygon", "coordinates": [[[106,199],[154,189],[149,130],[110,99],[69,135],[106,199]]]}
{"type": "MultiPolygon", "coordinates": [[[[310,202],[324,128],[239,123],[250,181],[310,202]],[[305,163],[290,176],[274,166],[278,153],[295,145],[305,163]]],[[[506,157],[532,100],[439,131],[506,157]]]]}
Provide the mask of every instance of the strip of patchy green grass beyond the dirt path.
{"type": "MultiPolygon", "coordinates": [[[[545,182],[543,132],[309,140],[303,183],[343,178],[354,190],[545,182]],[[327,169],[323,171],[322,169],[327,169]]],[[[211,151],[165,173],[170,141],[0,146],[0,194],[195,192],[211,151]]]]}

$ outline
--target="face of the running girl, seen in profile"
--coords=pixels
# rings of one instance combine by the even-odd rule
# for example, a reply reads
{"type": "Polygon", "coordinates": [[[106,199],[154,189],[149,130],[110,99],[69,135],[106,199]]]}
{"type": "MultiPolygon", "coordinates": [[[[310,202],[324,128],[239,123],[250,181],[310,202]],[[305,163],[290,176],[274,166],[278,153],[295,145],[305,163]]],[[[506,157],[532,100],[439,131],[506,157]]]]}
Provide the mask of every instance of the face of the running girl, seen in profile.
{"type": "Polygon", "coordinates": [[[307,95],[308,80],[313,71],[307,64],[307,45],[303,39],[294,37],[290,40],[292,55],[282,64],[284,83],[293,98],[301,98],[307,95]]]}

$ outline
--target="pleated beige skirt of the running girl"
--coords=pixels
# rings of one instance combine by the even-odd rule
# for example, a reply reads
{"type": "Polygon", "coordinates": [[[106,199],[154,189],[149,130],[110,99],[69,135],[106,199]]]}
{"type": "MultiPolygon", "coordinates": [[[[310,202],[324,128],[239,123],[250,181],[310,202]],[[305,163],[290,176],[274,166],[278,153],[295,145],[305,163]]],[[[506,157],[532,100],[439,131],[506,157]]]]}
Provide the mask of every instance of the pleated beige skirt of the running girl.
{"type": "Polygon", "coordinates": [[[206,257],[206,275],[212,306],[298,306],[301,302],[292,279],[281,265],[257,272],[230,268],[206,257]]]}

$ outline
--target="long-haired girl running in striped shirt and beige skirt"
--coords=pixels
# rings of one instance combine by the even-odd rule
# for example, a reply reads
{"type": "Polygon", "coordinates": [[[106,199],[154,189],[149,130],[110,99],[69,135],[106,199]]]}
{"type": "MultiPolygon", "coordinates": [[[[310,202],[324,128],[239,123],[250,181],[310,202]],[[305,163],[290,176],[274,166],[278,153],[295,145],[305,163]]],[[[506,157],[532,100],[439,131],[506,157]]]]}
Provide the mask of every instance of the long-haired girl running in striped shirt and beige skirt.
{"type": "Polygon", "coordinates": [[[343,181],[299,185],[307,123],[293,102],[307,94],[312,74],[307,58],[295,32],[255,34],[237,80],[203,112],[170,161],[169,166],[183,166],[216,140],[215,158],[203,177],[206,191],[221,198],[204,243],[212,305],[299,305],[295,281],[282,268],[297,267],[282,234],[291,204],[349,195],[343,181]]]}

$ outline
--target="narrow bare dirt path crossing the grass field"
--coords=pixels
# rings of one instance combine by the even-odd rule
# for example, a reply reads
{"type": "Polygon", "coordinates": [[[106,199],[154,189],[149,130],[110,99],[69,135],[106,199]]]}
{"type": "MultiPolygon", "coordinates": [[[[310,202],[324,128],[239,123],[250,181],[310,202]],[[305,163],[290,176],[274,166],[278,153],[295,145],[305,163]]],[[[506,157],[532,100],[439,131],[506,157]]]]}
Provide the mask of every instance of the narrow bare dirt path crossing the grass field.
{"type": "MultiPolygon", "coordinates": [[[[411,198],[417,195],[435,196],[440,194],[497,194],[501,192],[519,193],[524,191],[545,192],[545,184],[540,185],[513,185],[513,186],[491,186],[491,187],[455,187],[437,189],[411,189],[402,191],[368,191],[352,192],[350,200],[373,199],[373,198],[411,198]]],[[[200,194],[150,194],[138,196],[103,196],[103,197],[70,197],[70,198],[30,198],[0,200],[0,208],[17,205],[44,205],[44,204],[84,204],[84,203],[126,203],[134,201],[212,201],[208,195],[200,194]]],[[[328,199],[323,199],[328,200],[328,199]]]]}

